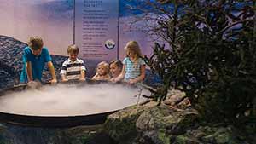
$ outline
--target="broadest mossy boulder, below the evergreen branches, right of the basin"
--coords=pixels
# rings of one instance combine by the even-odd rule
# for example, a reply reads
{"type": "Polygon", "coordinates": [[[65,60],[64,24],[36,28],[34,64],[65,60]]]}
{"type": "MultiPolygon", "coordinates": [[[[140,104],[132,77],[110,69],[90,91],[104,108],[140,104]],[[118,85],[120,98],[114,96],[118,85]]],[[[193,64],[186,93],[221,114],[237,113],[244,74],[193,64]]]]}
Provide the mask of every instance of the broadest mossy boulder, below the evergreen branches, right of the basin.
{"type": "Polygon", "coordinates": [[[181,135],[194,124],[198,113],[193,109],[176,111],[165,105],[152,107],[137,119],[138,130],[168,130],[172,135],[181,135]]]}

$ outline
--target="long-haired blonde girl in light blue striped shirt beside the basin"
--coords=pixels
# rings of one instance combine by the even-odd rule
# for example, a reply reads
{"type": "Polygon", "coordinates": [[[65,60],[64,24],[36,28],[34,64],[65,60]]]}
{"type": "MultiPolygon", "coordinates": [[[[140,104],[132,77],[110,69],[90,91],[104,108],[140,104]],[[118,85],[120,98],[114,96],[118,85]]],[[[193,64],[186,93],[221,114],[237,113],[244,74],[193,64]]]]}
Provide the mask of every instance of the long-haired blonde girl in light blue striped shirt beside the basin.
{"type": "Polygon", "coordinates": [[[142,59],[143,55],[138,43],[136,41],[126,43],[125,53],[122,72],[117,78],[113,79],[113,82],[119,82],[123,78],[128,84],[142,82],[146,75],[146,65],[142,59]]]}

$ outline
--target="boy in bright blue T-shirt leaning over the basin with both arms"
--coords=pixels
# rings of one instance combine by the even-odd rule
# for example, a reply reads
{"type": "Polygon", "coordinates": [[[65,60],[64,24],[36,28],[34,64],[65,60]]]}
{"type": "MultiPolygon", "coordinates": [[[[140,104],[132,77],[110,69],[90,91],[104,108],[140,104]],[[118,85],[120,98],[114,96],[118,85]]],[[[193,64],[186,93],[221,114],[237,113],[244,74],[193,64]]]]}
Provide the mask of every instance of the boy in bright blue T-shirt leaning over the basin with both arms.
{"type": "Polygon", "coordinates": [[[30,37],[28,46],[23,50],[23,70],[20,75],[20,83],[41,82],[44,65],[47,63],[52,80],[56,83],[55,67],[51,62],[51,57],[41,37],[30,37]]]}

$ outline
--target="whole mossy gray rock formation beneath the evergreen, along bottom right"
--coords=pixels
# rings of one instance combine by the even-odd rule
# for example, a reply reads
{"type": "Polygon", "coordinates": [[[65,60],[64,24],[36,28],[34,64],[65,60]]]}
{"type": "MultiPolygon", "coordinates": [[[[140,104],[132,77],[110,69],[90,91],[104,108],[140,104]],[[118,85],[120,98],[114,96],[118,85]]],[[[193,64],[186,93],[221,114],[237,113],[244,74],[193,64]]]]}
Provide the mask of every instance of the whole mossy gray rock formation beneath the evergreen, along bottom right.
{"type": "Polygon", "coordinates": [[[113,113],[103,125],[103,131],[119,144],[256,143],[256,129],[201,124],[199,117],[194,109],[177,111],[164,104],[157,106],[152,101],[113,113]]]}

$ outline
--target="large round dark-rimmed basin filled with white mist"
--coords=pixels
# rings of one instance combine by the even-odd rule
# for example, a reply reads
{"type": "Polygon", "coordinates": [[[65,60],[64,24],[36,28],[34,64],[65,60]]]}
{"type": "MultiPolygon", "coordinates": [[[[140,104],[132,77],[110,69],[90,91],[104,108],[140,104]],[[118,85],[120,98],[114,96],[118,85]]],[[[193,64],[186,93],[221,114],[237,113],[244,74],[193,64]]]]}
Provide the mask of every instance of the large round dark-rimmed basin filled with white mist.
{"type": "Polygon", "coordinates": [[[105,122],[122,108],[145,101],[142,87],[110,83],[26,84],[0,92],[0,122],[35,127],[73,127],[105,122]]]}

